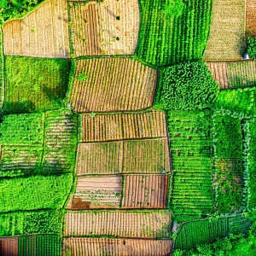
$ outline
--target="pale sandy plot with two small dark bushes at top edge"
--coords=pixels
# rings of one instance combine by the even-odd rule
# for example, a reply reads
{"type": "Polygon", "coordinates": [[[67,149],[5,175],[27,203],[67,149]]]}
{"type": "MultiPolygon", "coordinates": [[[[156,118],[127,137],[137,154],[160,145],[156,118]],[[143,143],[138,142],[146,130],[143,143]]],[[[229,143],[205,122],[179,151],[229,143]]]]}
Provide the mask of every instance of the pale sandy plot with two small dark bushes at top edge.
{"type": "Polygon", "coordinates": [[[102,51],[107,55],[133,55],[140,25],[138,1],[105,0],[99,4],[99,16],[102,51]]]}

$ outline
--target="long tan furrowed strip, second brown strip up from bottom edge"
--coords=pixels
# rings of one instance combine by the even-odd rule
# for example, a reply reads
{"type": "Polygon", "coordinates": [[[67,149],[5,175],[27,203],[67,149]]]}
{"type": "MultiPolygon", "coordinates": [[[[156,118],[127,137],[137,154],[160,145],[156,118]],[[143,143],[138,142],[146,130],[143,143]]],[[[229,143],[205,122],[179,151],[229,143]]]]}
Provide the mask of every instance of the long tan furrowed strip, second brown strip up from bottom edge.
{"type": "Polygon", "coordinates": [[[67,212],[64,236],[169,237],[171,213],[141,211],[67,212]]]}

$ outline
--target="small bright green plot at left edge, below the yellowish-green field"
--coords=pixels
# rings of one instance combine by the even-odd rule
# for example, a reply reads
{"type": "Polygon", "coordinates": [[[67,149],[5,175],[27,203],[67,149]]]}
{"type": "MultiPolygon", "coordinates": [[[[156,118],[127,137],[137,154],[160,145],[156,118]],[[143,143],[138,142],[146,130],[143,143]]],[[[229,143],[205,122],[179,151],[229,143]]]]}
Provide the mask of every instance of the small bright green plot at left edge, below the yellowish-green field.
{"type": "Polygon", "coordinates": [[[44,113],[4,115],[0,123],[0,145],[42,145],[44,113]]]}

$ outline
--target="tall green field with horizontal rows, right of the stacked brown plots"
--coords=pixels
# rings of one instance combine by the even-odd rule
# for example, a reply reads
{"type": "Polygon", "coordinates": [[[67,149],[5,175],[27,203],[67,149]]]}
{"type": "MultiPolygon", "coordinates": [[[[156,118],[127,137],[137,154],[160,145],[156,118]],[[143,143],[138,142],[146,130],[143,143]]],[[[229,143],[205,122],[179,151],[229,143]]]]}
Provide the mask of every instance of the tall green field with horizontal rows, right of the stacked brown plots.
{"type": "Polygon", "coordinates": [[[212,212],[210,115],[172,111],[169,114],[173,187],[171,207],[180,220],[212,212]]]}

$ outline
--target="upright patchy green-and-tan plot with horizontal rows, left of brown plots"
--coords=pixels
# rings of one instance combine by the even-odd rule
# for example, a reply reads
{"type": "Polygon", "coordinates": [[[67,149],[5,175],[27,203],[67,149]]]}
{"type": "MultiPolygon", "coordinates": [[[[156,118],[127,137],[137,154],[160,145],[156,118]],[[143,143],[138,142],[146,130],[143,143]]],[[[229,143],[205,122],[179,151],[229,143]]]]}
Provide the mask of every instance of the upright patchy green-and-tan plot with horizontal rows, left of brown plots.
{"type": "Polygon", "coordinates": [[[44,172],[73,172],[76,147],[76,115],[65,110],[47,112],[44,131],[44,172]]]}

